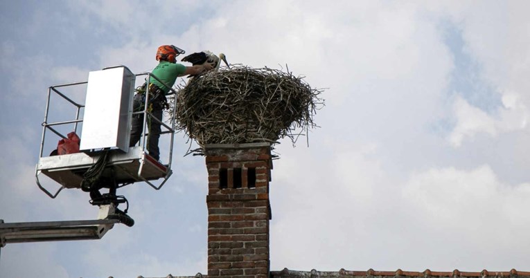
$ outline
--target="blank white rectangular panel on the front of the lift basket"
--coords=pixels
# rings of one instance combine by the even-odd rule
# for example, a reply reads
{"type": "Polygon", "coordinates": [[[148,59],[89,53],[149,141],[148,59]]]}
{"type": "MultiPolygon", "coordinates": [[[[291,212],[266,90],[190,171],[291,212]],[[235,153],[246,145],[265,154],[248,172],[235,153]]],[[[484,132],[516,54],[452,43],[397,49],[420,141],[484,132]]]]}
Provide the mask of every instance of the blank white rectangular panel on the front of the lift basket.
{"type": "Polygon", "coordinates": [[[125,66],[89,73],[80,150],[121,149],[130,141],[134,74],[125,66]]]}

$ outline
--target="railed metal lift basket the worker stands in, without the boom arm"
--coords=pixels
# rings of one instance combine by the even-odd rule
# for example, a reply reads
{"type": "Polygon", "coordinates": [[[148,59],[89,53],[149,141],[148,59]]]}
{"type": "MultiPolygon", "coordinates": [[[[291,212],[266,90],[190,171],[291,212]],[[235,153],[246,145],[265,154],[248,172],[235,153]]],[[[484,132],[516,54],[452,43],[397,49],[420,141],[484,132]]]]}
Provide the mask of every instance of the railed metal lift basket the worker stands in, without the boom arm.
{"type": "MultiPolygon", "coordinates": [[[[43,192],[51,198],[55,198],[62,189],[80,188],[83,175],[96,164],[103,151],[109,151],[109,158],[101,175],[103,178],[112,175],[112,179],[115,180],[118,187],[145,182],[158,190],[166,183],[172,174],[175,109],[173,109],[173,113],[166,115],[165,120],[159,121],[154,118],[148,110],[150,93],[149,88],[147,88],[143,111],[133,111],[134,84],[136,79],[143,77],[143,75],[146,76],[145,80],[150,77],[159,80],[151,73],[134,75],[125,66],[113,66],[104,68],[102,71],[91,71],[87,82],[60,84],[48,88],[39,161],[35,169],[37,185],[43,192]],[[87,87],[84,103],[82,100],[73,100],[64,92],[76,86],[87,87]],[[61,100],[63,105],[53,106],[52,97],[54,100],[61,100]],[[49,119],[51,114],[57,111],[56,109],[64,110],[64,106],[73,107],[73,110],[76,111],[76,118],[51,122],[49,119]],[[139,144],[129,147],[132,117],[138,115],[143,115],[143,133],[139,144]],[[169,146],[164,148],[166,150],[164,155],[168,158],[166,162],[155,160],[148,154],[146,145],[149,136],[147,128],[149,120],[161,124],[161,136],[166,134],[169,136],[169,140],[167,140],[169,146]],[[169,122],[170,125],[166,122],[169,122]],[[44,149],[53,150],[55,145],[50,143],[57,142],[48,139],[49,133],[58,136],[54,136],[55,138],[67,140],[67,133],[78,133],[80,125],[82,126],[80,152],[44,155],[44,149]],[[42,183],[41,174],[59,183],[60,188],[55,192],[46,189],[42,183]]],[[[161,82],[161,80],[159,81],[161,82]]],[[[164,84],[164,82],[162,83],[164,84]]],[[[78,98],[80,98],[79,92],[85,92],[82,88],[71,91],[76,91],[78,98]]],[[[169,94],[174,93],[176,92],[171,89],[169,94]]],[[[161,142],[163,141],[161,140],[161,142]]]]}

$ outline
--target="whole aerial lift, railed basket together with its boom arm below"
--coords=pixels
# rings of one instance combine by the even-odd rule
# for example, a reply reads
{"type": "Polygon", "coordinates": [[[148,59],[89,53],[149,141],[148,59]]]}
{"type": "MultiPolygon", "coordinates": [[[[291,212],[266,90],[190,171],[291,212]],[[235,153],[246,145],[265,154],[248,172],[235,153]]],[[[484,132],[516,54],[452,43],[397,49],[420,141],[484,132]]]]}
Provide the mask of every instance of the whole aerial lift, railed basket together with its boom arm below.
{"type": "MultiPolygon", "coordinates": [[[[55,198],[62,189],[81,188],[85,174],[98,168],[99,178],[112,180],[112,187],[107,187],[107,195],[111,198],[104,197],[103,201],[95,202],[91,196],[91,204],[99,207],[98,218],[94,220],[4,223],[0,219],[0,250],[7,243],[101,239],[115,223],[129,227],[134,225],[134,220],[125,215],[127,210],[118,210],[117,205],[127,200],[123,196],[118,198],[116,189],[137,182],[160,189],[172,174],[175,136],[175,109],[166,114],[165,120],[155,118],[148,105],[151,98],[149,86],[145,86],[143,111],[133,111],[134,84],[143,75],[146,75],[145,80],[152,77],[161,82],[150,73],[134,75],[125,66],[113,66],[91,71],[87,82],[48,88],[39,161],[35,167],[37,185],[48,196],[55,198]],[[82,86],[86,86],[86,90],[82,86]],[[66,91],[70,91],[71,95],[66,91]],[[74,119],[51,120],[53,117],[62,118],[68,109],[75,112],[74,119]],[[142,115],[143,131],[139,144],[130,147],[132,117],[142,115]],[[161,154],[167,158],[166,163],[152,158],[145,147],[149,121],[159,122],[161,136],[169,137],[168,146],[161,148],[161,154]],[[170,126],[165,122],[170,122],[170,126]],[[80,137],[77,136],[79,126],[80,137]],[[52,138],[60,139],[59,144],[49,138],[50,133],[52,138]],[[69,147],[59,151],[60,146],[65,144],[69,147]],[[51,151],[49,156],[44,155],[45,149],[46,153],[51,151]],[[49,178],[47,186],[42,176],[49,178]],[[47,189],[51,186],[50,182],[58,183],[60,187],[55,192],[50,191],[47,189]]],[[[171,89],[169,94],[175,94],[175,91],[171,89]]]]}

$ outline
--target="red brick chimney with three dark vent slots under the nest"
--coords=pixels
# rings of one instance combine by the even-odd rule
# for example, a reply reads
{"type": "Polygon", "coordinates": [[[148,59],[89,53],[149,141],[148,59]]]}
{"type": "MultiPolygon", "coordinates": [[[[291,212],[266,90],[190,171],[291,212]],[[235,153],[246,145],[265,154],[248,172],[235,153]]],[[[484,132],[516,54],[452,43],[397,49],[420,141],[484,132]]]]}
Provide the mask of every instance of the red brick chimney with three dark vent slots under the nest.
{"type": "Polygon", "coordinates": [[[208,276],[269,277],[270,144],[206,145],[208,276]]]}

